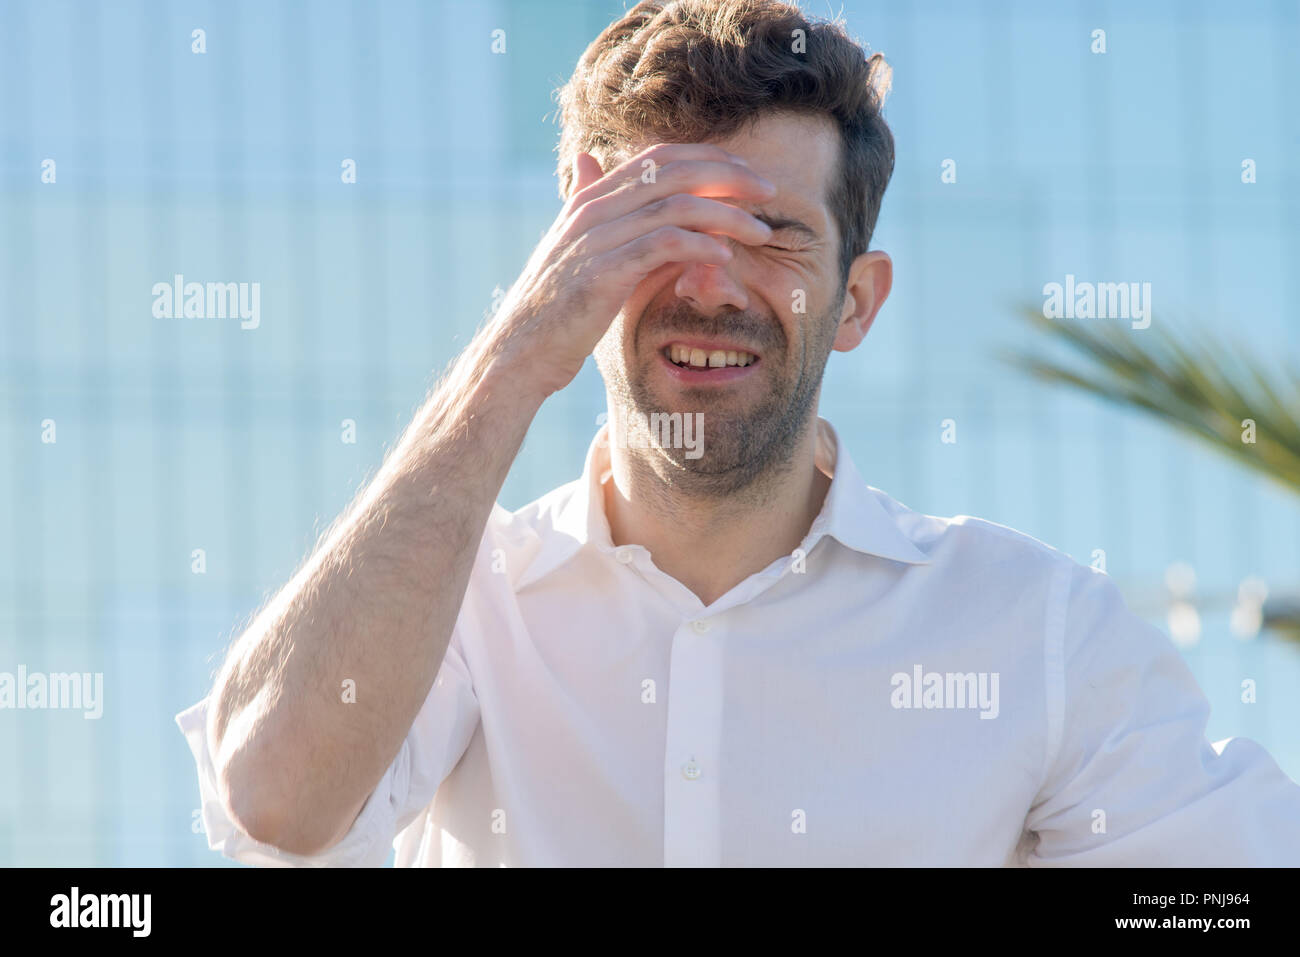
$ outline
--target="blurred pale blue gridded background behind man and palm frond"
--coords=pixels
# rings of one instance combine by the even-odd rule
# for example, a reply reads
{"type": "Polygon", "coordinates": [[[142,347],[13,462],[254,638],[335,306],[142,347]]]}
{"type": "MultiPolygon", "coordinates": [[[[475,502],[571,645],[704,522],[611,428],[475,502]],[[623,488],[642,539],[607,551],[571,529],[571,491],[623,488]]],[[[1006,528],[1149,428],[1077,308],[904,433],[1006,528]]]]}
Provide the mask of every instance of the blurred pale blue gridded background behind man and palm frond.
{"type": "MultiPolygon", "coordinates": [[[[822,413],[913,508],[1104,553],[1210,739],[1300,778],[1300,646],[1238,597],[1300,589],[1300,498],[996,358],[1061,348],[1018,312],[1067,274],[1300,356],[1296,4],[802,5],[892,62],[898,147],[894,291],[822,413]]],[[[0,710],[0,865],[229,863],[173,715],[554,218],[551,92],[623,9],[0,3],[0,671],[104,675],[99,720],[0,710]],[[260,324],[155,317],[178,273],[259,282],[260,324]]],[[[589,363],[503,505],[576,477],[603,407],[589,363]]]]}

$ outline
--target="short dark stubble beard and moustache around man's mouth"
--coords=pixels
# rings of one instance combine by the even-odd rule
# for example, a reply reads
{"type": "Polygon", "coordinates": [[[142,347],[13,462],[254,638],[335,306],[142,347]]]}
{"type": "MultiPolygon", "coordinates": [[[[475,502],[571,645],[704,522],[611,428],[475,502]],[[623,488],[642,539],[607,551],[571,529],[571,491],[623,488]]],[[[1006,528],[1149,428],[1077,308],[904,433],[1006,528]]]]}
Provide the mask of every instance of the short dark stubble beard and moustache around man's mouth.
{"type": "Polygon", "coordinates": [[[641,317],[630,343],[640,361],[630,368],[623,360],[620,317],[611,330],[614,334],[598,345],[595,360],[611,399],[619,406],[611,410],[610,428],[624,429],[633,471],[650,469],[664,485],[692,498],[760,494],[768,481],[794,464],[794,450],[816,404],[842,306],[841,290],[831,309],[816,319],[805,319],[807,334],[792,343],[775,319],[749,312],[705,317],[677,300],[641,317]],[[760,358],[755,373],[764,386],[762,398],[745,403],[731,398],[725,386],[685,387],[672,402],[656,395],[650,378],[660,356],[646,352],[646,343],[663,342],[673,334],[727,338],[750,346],[760,358]],[[682,419],[701,413],[703,434],[698,451],[662,441],[660,429],[653,425],[658,419],[651,415],[675,412],[682,419]],[[651,423],[649,434],[647,423],[651,423]]]}

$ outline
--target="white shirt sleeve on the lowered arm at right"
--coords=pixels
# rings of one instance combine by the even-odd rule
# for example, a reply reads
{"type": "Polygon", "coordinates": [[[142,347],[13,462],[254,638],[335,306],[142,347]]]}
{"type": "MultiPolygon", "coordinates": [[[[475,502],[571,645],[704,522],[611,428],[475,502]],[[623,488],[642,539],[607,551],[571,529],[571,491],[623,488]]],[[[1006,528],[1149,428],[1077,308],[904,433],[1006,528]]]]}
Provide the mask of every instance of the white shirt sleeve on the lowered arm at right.
{"type": "Polygon", "coordinates": [[[1069,573],[1024,863],[1300,865],[1300,785],[1253,741],[1212,745],[1209,701],[1174,644],[1105,573],[1074,562],[1069,573]]]}

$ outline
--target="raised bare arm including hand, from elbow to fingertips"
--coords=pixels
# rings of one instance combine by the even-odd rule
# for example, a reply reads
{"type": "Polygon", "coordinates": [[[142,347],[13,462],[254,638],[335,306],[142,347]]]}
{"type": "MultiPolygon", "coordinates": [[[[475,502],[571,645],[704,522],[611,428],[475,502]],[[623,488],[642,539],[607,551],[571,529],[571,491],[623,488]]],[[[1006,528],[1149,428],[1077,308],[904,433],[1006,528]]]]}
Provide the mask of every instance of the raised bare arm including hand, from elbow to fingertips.
{"type": "Polygon", "coordinates": [[[338,843],[398,753],[437,677],[489,514],[542,400],[578,372],[659,267],[720,264],[771,230],[708,196],[774,187],[731,153],[658,146],[576,189],[380,473],[238,638],[208,741],[235,824],[296,854],[338,843]],[[645,160],[656,166],[645,182],[645,160]],[[342,684],[355,681],[343,705],[342,684]]]}

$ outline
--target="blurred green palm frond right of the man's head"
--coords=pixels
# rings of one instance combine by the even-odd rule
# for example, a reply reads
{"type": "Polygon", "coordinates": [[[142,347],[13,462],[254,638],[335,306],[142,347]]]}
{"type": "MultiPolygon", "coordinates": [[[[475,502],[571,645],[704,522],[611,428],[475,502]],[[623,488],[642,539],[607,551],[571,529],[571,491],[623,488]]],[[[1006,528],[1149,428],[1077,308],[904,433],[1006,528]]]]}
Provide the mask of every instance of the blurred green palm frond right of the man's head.
{"type": "Polygon", "coordinates": [[[1020,313],[1083,364],[1030,351],[1001,358],[1035,378],[1069,385],[1108,402],[1154,415],[1212,449],[1300,493],[1300,368],[1279,374],[1239,339],[1188,326],[1175,333],[1158,319],[1147,329],[1118,320],[1046,319],[1020,313]],[[1249,421],[1247,421],[1249,420],[1249,421]],[[1254,424],[1253,442],[1248,429],[1254,424]]]}

